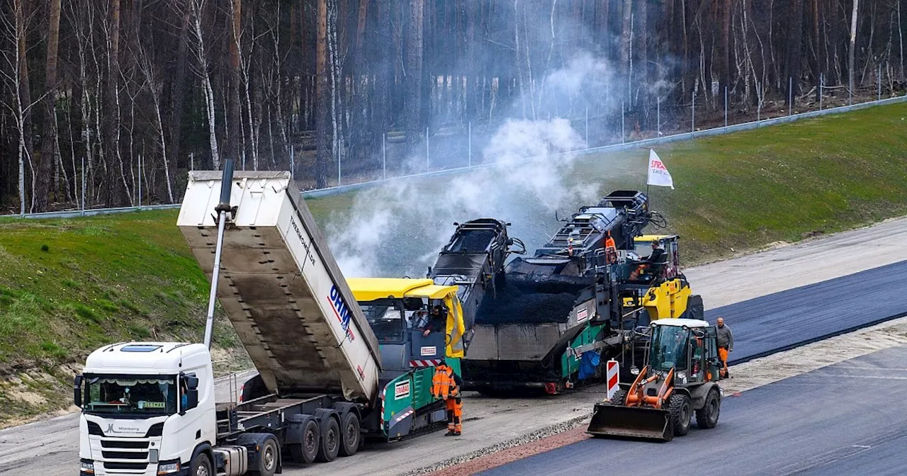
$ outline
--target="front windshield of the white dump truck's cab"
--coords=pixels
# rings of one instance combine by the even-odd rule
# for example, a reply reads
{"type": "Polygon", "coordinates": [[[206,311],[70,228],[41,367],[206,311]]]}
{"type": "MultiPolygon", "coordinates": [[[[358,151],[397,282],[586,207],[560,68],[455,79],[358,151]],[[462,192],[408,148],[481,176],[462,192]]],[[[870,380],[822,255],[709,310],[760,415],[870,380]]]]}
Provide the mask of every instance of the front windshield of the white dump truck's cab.
{"type": "Polygon", "coordinates": [[[85,413],[157,416],[176,413],[176,377],[85,375],[85,413]]]}

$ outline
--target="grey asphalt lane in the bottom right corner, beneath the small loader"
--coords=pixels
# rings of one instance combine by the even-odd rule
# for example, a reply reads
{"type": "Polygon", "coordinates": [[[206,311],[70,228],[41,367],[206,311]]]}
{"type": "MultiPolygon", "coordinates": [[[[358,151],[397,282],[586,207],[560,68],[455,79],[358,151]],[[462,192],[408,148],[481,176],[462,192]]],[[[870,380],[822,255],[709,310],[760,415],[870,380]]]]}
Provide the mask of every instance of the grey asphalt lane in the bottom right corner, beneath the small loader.
{"type": "Polygon", "coordinates": [[[716,428],[673,442],[590,439],[483,476],[903,474],[907,346],[727,396],[716,428]]]}

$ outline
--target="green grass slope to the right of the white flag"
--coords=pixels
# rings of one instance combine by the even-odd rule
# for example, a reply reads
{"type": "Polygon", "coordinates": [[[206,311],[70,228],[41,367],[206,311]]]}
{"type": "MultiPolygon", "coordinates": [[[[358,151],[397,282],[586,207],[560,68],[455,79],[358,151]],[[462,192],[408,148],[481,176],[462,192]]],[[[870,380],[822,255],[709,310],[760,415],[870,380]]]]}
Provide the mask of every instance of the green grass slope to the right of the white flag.
{"type": "Polygon", "coordinates": [[[907,214],[907,104],[657,151],[677,189],[653,207],[694,261],[907,214]]]}

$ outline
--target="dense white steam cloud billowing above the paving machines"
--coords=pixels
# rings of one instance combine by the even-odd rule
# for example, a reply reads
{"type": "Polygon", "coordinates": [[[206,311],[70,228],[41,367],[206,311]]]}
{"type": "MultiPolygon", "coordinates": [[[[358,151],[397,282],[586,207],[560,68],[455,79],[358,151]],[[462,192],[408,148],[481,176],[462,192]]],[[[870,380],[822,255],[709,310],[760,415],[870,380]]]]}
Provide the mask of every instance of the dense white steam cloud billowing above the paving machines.
{"type": "MultiPolygon", "coordinates": [[[[582,92],[605,94],[609,79],[606,63],[581,54],[543,83],[552,96],[570,96],[572,104],[581,102],[582,92]]],[[[335,212],[327,234],[337,262],[347,277],[422,277],[453,233],[453,222],[469,219],[508,220],[512,236],[547,237],[553,225],[528,230],[521,222],[540,209],[553,215],[565,206],[599,199],[601,180],[585,177],[569,183],[576,159],[571,151],[585,146],[567,119],[504,121],[482,152],[483,168],[394,180],[358,193],[351,209],[335,212]]]]}

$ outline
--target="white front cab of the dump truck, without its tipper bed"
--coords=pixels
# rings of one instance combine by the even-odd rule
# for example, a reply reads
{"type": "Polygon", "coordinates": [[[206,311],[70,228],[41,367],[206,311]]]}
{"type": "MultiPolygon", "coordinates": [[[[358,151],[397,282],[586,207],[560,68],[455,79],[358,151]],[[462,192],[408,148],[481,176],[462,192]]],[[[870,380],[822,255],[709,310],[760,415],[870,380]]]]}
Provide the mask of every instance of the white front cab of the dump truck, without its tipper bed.
{"type": "Polygon", "coordinates": [[[172,342],[104,346],[75,379],[80,474],[181,475],[217,438],[208,348],[172,342]]]}

